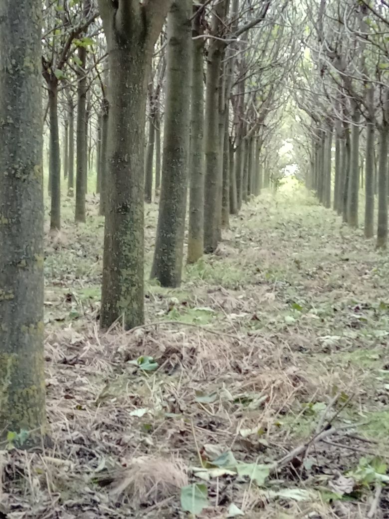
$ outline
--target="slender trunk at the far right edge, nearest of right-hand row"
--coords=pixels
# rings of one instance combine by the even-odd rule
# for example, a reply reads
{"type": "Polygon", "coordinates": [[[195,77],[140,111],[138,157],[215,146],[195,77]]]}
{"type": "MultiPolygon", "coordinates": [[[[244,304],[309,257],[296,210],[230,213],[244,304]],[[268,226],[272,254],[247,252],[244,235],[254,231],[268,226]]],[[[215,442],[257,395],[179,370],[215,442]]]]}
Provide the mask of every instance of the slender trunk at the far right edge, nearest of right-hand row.
{"type": "Polygon", "coordinates": [[[378,227],[377,247],[386,249],[387,245],[387,153],[389,126],[384,121],[380,128],[380,151],[378,159],[378,227]]]}

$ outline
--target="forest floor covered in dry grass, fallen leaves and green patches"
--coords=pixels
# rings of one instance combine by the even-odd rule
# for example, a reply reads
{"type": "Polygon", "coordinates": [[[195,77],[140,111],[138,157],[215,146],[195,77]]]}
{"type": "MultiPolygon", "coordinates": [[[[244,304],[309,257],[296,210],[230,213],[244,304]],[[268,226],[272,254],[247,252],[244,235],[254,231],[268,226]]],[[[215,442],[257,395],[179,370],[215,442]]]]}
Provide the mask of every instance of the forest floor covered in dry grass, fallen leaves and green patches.
{"type": "Polygon", "coordinates": [[[50,441],[10,434],[0,517],[389,517],[386,253],[289,181],[180,289],[146,281],[145,326],[102,333],[103,220],[73,203],[46,240],[50,441]]]}

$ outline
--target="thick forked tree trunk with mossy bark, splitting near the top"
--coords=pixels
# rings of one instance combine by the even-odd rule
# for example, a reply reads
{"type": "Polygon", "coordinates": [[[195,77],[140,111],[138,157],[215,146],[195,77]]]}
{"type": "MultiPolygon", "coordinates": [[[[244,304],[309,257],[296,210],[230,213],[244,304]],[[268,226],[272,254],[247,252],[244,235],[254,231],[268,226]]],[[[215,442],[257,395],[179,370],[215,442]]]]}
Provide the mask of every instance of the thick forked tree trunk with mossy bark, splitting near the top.
{"type": "Polygon", "coordinates": [[[99,0],[109,53],[101,325],[144,320],[144,140],[154,45],[171,0],[99,0]],[[131,152],[131,153],[130,153],[131,152]]]}

